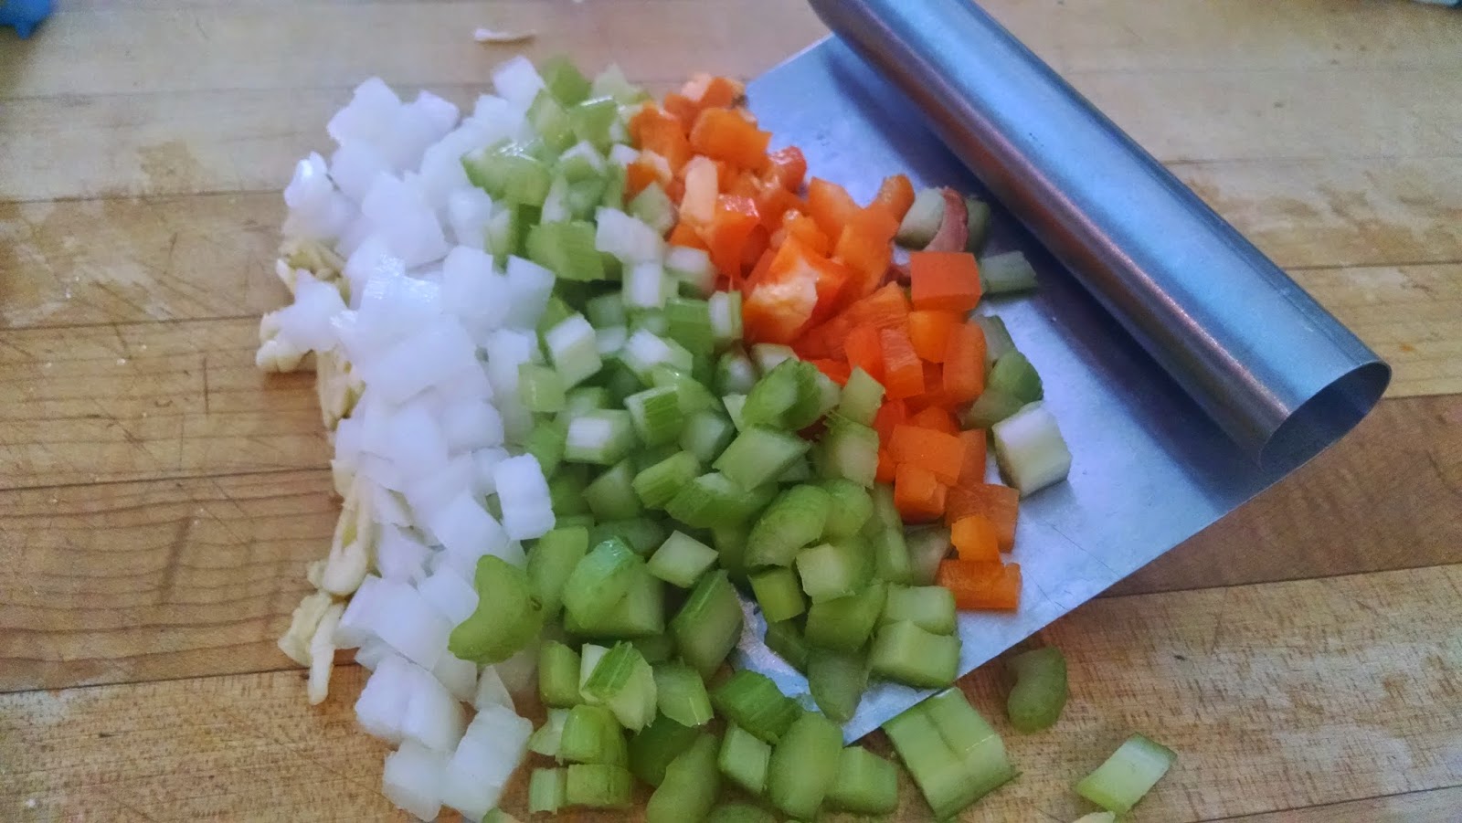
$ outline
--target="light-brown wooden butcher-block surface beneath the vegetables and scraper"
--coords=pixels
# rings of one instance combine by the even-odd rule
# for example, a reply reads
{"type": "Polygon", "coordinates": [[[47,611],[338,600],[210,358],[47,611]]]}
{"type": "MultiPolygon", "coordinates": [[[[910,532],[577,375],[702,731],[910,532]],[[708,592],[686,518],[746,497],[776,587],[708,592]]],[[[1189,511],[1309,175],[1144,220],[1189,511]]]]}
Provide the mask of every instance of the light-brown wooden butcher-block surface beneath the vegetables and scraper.
{"type": "MultiPolygon", "coordinates": [[[[969,820],[1067,822],[1129,731],[1132,816],[1462,816],[1462,13],[1354,0],[987,6],[1396,368],[1342,444],[1047,630],[1060,727],[969,820]]],[[[822,37],[791,0],[63,0],[0,32],[0,819],[396,819],[360,670],[275,649],[335,501],[310,376],[253,368],[291,164],[382,75],[512,53],[664,91],[822,37]]],[[[999,672],[966,689],[1000,718],[999,672]]],[[[520,811],[520,808],[515,808],[520,811]]],[[[927,814],[906,792],[901,819],[927,814]]]]}

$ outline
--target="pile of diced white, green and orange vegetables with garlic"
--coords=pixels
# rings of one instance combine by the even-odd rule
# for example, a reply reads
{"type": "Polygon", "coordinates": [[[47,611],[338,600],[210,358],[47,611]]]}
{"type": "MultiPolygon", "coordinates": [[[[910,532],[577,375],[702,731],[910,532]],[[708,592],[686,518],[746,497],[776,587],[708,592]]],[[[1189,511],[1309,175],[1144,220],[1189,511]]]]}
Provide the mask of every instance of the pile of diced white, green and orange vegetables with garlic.
{"type": "MultiPolygon", "coordinates": [[[[316,370],[345,500],[279,640],[310,702],[358,649],[385,794],[424,820],[509,820],[529,759],[531,813],[648,784],[652,822],[886,814],[895,765],[841,728],[879,680],[942,689],[885,725],[936,814],[1012,779],[949,689],[958,611],[1019,607],[1019,498],[1070,453],[971,316],[1035,285],[1019,253],[977,259],[988,208],[804,184],[724,77],[656,104],[515,58],[493,85],[459,118],[363,83],[285,190],[294,303],[257,363],[316,370]],[[808,696],[727,665],[743,598],[808,696]]],[[[1010,667],[1012,724],[1048,728],[1060,652],[1010,667]]],[[[1162,751],[1135,737],[1077,791],[1126,811],[1162,751]]]]}

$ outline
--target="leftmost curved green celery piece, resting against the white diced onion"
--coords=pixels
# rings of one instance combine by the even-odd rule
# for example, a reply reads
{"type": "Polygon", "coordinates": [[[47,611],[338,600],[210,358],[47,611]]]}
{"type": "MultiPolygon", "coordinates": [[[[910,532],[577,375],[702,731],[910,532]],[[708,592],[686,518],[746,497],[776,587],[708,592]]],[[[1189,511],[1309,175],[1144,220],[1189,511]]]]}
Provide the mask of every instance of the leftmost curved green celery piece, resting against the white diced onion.
{"type": "Polygon", "coordinates": [[[544,610],[532,595],[528,572],[487,554],[472,580],[477,610],[447,637],[447,649],[478,664],[497,664],[520,652],[542,630],[544,610]]]}

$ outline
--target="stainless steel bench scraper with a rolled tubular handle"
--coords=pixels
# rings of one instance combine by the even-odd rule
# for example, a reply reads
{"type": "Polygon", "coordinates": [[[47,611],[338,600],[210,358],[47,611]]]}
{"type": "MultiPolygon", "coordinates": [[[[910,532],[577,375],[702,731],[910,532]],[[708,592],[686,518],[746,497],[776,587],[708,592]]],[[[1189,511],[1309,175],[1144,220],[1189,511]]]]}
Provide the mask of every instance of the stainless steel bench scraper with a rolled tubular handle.
{"type": "MultiPolygon", "coordinates": [[[[1022,608],[961,615],[962,672],[1273,484],[1380,398],[1385,363],[977,4],[811,4],[836,37],[749,86],[775,143],[864,202],[895,172],[985,196],[988,249],[1025,251],[1042,284],[985,310],[1039,368],[1072,474],[1022,501],[1022,608]]],[[[806,691],[746,610],[738,662],[806,691]]],[[[871,689],[848,740],[925,694],[871,689]]]]}

